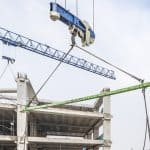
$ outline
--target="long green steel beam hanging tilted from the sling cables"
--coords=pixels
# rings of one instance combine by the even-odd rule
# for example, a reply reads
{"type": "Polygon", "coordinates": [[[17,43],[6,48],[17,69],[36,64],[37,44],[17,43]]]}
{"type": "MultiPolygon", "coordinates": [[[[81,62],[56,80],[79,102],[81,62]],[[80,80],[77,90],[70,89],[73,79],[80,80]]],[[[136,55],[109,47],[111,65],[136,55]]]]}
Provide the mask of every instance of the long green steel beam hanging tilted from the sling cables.
{"type": "Polygon", "coordinates": [[[48,108],[48,107],[53,107],[53,106],[61,106],[61,105],[65,105],[65,104],[77,103],[77,102],[87,101],[87,100],[96,99],[96,98],[100,98],[100,97],[105,97],[105,96],[129,92],[129,91],[134,91],[134,90],[138,90],[138,89],[144,89],[147,87],[150,87],[150,82],[141,83],[141,84],[134,85],[134,86],[129,86],[129,87],[121,88],[121,89],[114,90],[114,91],[106,91],[106,92],[102,92],[100,94],[86,96],[86,97],[82,97],[82,98],[76,98],[76,99],[71,99],[71,100],[66,100],[66,101],[61,101],[61,102],[55,102],[55,103],[51,103],[51,104],[25,107],[25,109],[23,111],[30,112],[30,111],[33,111],[35,109],[48,108]]]}

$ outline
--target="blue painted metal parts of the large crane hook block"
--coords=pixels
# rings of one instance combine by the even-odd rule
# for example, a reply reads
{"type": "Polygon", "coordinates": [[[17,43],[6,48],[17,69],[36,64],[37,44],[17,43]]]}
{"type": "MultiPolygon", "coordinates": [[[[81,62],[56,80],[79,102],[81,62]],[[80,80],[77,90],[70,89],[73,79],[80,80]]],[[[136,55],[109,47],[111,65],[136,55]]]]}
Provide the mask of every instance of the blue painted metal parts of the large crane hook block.
{"type": "MultiPolygon", "coordinates": [[[[85,33],[86,29],[85,29],[85,26],[83,25],[82,21],[78,17],[73,15],[71,12],[69,12],[68,10],[61,7],[59,4],[51,2],[50,3],[50,11],[55,11],[55,12],[59,13],[59,15],[60,15],[59,20],[62,21],[63,23],[65,23],[66,25],[68,25],[68,26],[75,25],[78,29],[80,29],[81,31],[83,31],[85,33]]],[[[93,39],[95,39],[95,33],[92,29],[90,29],[90,34],[91,34],[91,37],[93,39]]]]}

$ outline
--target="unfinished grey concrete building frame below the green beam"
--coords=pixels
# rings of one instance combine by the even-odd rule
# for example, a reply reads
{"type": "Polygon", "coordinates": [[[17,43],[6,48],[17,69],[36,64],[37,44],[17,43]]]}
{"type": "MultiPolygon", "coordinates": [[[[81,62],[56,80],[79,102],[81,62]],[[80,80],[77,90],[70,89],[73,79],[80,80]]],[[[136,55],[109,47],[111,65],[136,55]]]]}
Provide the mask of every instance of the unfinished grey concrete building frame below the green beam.
{"type": "Polygon", "coordinates": [[[0,150],[110,150],[109,96],[93,107],[72,104],[25,112],[35,92],[26,75],[18,74],[16,83],[17,88],[0,89],[0,150]]]}

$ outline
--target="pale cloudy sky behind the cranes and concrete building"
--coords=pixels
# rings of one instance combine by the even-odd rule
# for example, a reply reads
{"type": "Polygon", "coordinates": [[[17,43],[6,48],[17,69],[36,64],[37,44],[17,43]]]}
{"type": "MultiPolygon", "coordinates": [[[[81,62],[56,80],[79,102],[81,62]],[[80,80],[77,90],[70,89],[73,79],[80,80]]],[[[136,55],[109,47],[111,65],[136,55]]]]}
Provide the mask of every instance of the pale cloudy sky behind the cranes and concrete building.
{"type": "MultiPolygon", "coordinates": [[[[0,26],[36,41],[67,51],[70,47],[68,28],[49,18],[47,0],[0,0],[0,26]]],[[[57,0],[64,6],[64,0],[57,0]]],[[[75,0],[67,0],[67,9],[75,13],[75,0]]],[[[92,0],[79,2],[79,17],[91,25],[92,0]],[[86,6],[86,7],[85,7],[86,6]]],[[[95,34],[93,45],[86,49],[109,62],[150,81],[150,1],[149,0],[95,0],[95,34]]],[[[78,41],[80,45],[80,41],[78,41]]],[[[55,76],[46,84],[39,97],[66,100],[99,93],[103,88],[118,89],[138,84],[137,81],[74,48],[72,55],[81,57],[115,71],[116,80],[89,73],[62,64],[55,76]]],[[[16,59],[12,70],[28,75],[35,91],[57,65],[57,61],[0,43],[0,55],[16,59]]],[[[0,72],[6,66],[0,60],[0,72]]],[[[0,87],[15,87],[11,72],[7,70],[0,87]]],[[[149,94],[146,90],[148,109],[149,94]]],[[[92,101],[88,103],[92,104],[92,101]]],[[[145,131],[145,110],[141,91],[111,97],[112,150],[140,150],[145,131]]],[[[146,148],[149,148],[148,141],[146,148]]]]}

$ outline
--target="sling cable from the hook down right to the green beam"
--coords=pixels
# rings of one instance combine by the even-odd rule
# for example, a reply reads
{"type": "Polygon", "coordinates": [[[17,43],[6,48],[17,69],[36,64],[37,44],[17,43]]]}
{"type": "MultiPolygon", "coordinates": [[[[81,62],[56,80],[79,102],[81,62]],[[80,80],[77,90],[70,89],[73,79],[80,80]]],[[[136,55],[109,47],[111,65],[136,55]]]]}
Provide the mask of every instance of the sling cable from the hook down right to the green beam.
{"type": "Polygon", "coordinates": [[[137,80],[137,81],[139,81],[139,82],[141,82],[141,83],[144,81],[143,79],[141,79],[141,78],[139,78],[139,77],[137,77],[137,76],[135,76],[135,75],[133,75],[133,74],[131,74],[131,73],[125,71],[124,69],[122,69],[122,68],[120,68],[120,67],[118,67],[118,66],[116,66],[116,65],[114,65],[114,64],[112,64],[112,63],[110,63],[110,62],[108,62],[107,60],[105,60],[105,59],[103,59],[103,58],[101,58],[101,57],[95,55],[95,54],[92,53],[92,52],[87,51],[86,49],[84,49],[84,48],[82,48],[82,47],[80,47],[80,46],[78,46],[78,45],[75,45],[75,47],[77,47],[78,49],[82,50],[83,52],[85,52],[85,53],[91,55],[92,57],[95,57],[96,59],[98,59],[98,60],[100,60],[100,61],[102,61],[102,62],[104,62],[104,63],[106,63],[106,64],[108,64],[108,65],[110,65],[110,66],[112,66],[112,67],[114,67],[115,69],[117,69],[117,70],[119,70],[119,71],[125,73],[126,75],[130,76],[131,78],[134,78],[135,80],[137,80]]]}

